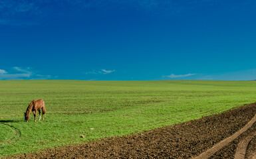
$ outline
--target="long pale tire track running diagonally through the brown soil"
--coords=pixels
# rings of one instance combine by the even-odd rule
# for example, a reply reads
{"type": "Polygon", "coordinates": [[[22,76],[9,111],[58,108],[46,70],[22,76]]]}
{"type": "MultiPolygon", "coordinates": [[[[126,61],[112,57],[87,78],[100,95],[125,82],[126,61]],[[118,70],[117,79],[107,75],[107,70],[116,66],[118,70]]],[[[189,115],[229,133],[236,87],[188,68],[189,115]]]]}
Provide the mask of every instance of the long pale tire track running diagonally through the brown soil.
{"type": "Polygon", "coordinates": [[[243,132],[247,131],[250,127],[253,126],[253,123],[255,123],[255,122],[256,122],[256,115],[253,117],[253,119],[251,119],[251,121],[249,121],[247,123],[247,125],[245,125],[245,127],[240,129],[239,131],[235,132],[232,136],[229,136],[228,138],[225,138],[224,140],[221,140],[221,142],[218,142],[212,148],[209,148],[208,150],[206,150],[205,152],[201,153],[199,156],[197,156],[197,157],[195,157],[193,159],[206,159],[206,158],[210,158],[217,151],[221,150],[221,148],[223,148],[224,146],[227,146],[227,144],[229,144],[230,142],[235,140],[235,138],[237,138],[240,134],[243,134],[243,132]]]}

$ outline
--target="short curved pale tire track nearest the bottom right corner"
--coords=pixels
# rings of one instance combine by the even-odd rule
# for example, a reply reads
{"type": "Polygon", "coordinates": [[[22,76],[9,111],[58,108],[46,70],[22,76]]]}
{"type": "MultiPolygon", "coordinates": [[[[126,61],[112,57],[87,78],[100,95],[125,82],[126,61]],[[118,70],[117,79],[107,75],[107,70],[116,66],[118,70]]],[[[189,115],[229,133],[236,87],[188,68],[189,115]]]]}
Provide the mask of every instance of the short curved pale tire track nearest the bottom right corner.
{"type": "Polygon", "coordinates": [[[234,159],[244,159],[247,151],[247,146],[249,142],[256,136],[256,132],[253,132],[247,136],[244,140],[239,142],[237,146],[237,150],[235,152],[235,158],[234,159]]]}

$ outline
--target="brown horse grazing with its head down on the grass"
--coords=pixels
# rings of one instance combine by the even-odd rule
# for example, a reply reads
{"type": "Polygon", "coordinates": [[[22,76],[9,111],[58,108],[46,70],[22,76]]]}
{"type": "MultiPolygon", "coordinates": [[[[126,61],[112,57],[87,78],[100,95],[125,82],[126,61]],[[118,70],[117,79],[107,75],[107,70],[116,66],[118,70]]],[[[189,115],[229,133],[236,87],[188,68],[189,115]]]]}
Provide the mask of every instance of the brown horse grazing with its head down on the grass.
{"type": "Polygon", "coordinates": [[[31,103],[29,104],[29,107],[27,107],[27,111],[24,113],[24,121],[28,122],[29,121],[29,114],[31,111],[33,111],[34,117],[35,117],[35,121],[36,117],[37,117],[37,111],[39,111],[39,121],[41,119],[41,109],[43,112],[43,119],[44,119],[44,115],[45,113],[47,113],[46,109],[45,109],[45,101],[43,101],[43,99],[38,99],[38,100],[33,100],[31,101],[31,103]]]}

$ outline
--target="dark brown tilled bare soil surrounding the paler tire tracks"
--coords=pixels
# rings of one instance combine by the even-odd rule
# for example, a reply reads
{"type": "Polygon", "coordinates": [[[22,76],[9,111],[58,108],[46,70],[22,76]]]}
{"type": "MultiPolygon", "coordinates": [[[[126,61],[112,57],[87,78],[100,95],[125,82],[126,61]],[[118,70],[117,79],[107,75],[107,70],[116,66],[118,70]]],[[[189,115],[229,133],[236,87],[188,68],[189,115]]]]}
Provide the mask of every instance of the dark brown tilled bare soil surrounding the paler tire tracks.
{"type": "MultiPolygon", "coordinates": [[[[243,129],[256,114],[256,103],[152,131],[104,138],[86,144],[50,148],[8,158],[195,158],[243,129]]],[[[234,158],[237,145],[256,132],[253,123],[209,158],[234,158]]],[[[256,138],[247,145],[245,158],[256,152],[256,138]]]]}

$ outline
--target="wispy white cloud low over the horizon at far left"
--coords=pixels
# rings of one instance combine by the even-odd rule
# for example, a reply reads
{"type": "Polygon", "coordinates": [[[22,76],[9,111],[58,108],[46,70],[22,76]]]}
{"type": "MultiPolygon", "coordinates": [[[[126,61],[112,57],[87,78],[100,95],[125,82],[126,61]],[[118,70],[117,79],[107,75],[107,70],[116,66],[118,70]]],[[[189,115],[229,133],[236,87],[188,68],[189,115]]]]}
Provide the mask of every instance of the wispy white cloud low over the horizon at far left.
{"type": "Polygon", "coordinates": [[[9,74],[6,70],[0,69],[0,79],[51,79],[50,75],[34,74],[31,68],[13,67],[13,73],[9,74]]]}

